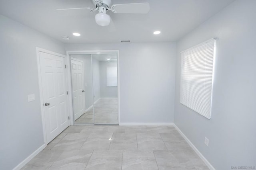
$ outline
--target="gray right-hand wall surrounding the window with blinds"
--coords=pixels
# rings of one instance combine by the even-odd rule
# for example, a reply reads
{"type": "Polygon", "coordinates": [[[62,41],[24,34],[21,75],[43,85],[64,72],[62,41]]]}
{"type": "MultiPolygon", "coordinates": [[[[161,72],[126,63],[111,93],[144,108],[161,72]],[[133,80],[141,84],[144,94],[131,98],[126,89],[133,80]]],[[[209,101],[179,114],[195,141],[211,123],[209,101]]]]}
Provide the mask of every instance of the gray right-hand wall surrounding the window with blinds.
{"type": "Polygon", "coordinates": [[[237,0],[177,43],[174,123],[217,170],[256,166],[255,7],[237,0]],[[219,39],[208,120],[179,103],[180,52],[212,37],[219,39]]]}

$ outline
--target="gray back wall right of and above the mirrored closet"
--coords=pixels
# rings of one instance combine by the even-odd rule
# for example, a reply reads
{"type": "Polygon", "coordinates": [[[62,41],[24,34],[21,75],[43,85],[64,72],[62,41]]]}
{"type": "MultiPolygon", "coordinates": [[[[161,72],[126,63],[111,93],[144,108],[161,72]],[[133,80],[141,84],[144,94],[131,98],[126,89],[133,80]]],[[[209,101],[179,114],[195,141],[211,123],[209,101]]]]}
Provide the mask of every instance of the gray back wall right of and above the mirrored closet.
{"type": "Polygon", "coordinates": [[[173,122],[176,43],[67,44],[120,51],[121,122],[173,122]]]}

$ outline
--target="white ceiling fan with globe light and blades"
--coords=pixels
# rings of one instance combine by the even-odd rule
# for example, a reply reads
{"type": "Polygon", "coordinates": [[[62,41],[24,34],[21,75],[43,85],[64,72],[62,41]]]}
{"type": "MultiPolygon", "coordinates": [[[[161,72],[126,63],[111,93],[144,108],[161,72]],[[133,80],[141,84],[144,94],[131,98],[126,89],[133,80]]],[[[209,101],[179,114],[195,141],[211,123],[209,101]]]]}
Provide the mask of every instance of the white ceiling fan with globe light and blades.
{"type": "Polygon", "coordinates": [[[110,23],[110,16],[106,12],[112,11],[114,13],[130,13],[130,14],[147,14],[150,7],[146,3],[133,3],[133,4],[114,4],[112,5],[111,0],[92,0],[94,8],[66,8],[57,10],[78,10],[87,9],[90,12],[98,11],[95,16],[95,21],[100,26],[107,26],[110,23]]]}

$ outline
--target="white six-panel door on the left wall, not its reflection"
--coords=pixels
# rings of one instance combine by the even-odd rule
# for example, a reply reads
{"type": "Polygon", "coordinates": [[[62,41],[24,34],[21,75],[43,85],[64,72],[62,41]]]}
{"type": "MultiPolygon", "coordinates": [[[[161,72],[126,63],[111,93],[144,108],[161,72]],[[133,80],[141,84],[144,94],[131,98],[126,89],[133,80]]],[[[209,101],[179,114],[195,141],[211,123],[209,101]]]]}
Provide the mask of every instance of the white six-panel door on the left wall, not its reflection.
{"type": "Polygon", "coordinates": [[[39,52],[46,141],[49,143],[69,125],[65,58],[39,52]]]}

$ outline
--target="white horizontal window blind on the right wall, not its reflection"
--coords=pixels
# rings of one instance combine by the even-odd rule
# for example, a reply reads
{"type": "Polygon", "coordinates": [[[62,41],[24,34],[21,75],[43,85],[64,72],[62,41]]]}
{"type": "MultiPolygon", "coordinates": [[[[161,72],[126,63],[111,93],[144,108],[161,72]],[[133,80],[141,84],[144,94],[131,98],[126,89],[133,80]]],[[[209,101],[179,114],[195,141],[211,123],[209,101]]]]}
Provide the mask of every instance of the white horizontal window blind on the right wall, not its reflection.
{"type": "Polygon", "coordinates": [[[181,53],[180,103],[211,118],[215,39],[181,53]]]}

